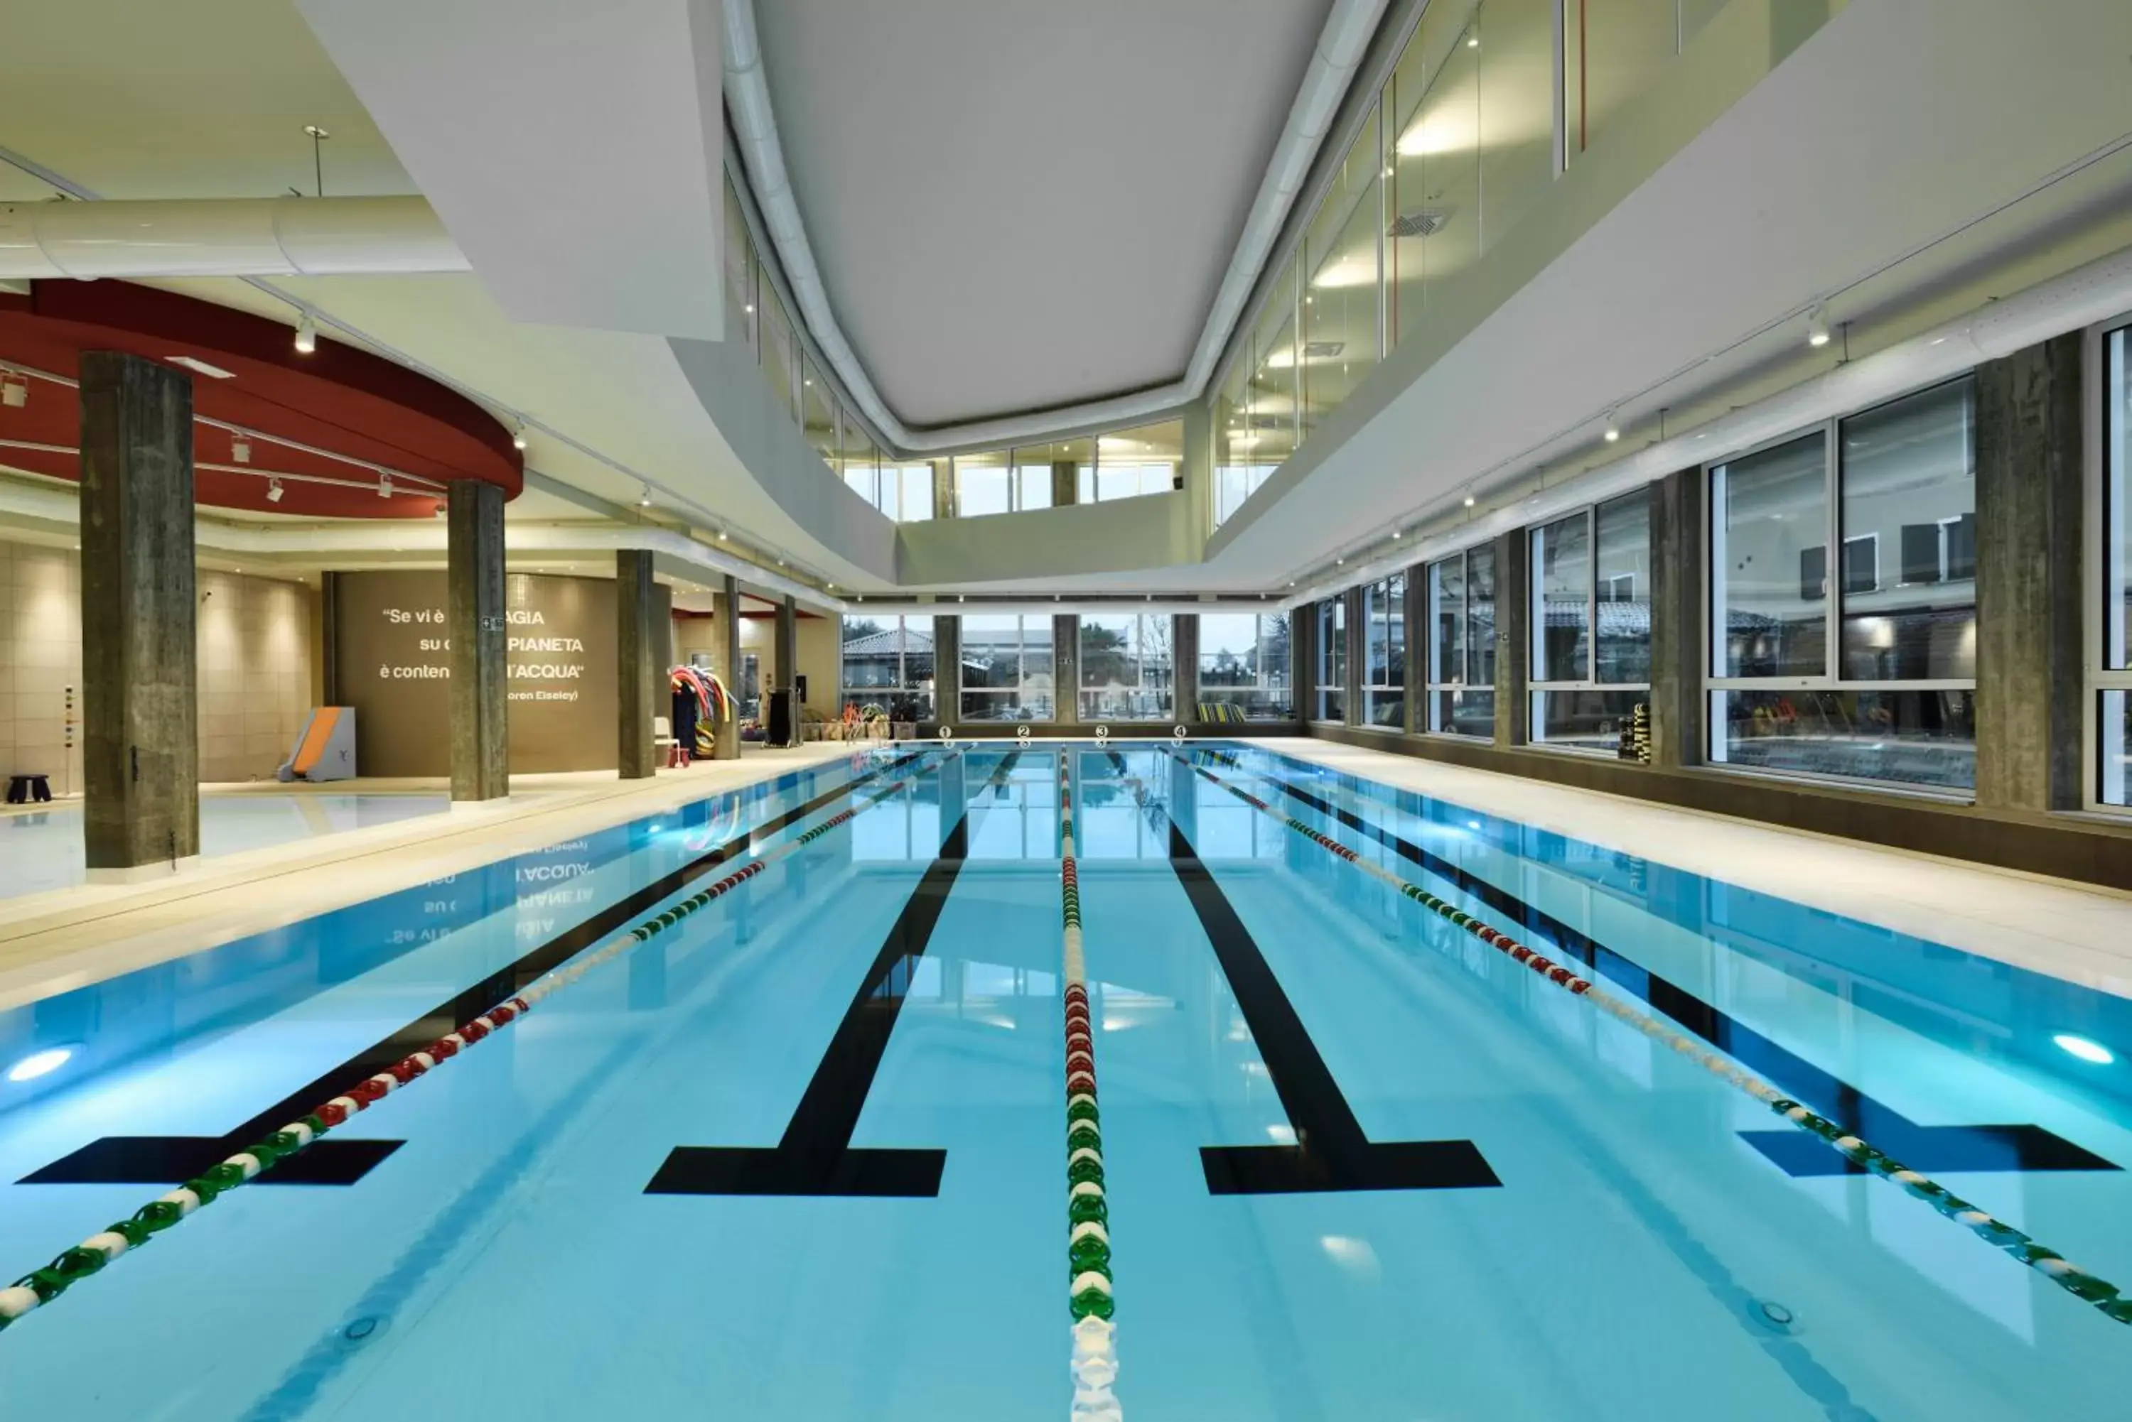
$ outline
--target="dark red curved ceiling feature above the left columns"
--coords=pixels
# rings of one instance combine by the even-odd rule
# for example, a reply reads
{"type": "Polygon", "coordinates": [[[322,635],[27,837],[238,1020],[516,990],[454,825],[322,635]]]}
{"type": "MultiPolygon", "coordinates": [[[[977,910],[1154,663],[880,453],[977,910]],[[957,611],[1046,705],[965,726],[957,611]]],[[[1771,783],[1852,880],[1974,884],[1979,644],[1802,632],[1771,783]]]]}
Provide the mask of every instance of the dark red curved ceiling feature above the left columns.
{"type": "MultiPolygon", "coordinates": [[[[79,375],[81,352],[124,350],[168,362],[190,356],[228,379],[179,367],[192,379],[196,416],[241,424],[367,465],[435,480],[484,480],[518,497],[524,458],[495,416],[456,390],[414,371],[320,337],[296,352],[281,322],[130,281],[34,281],[28,296],[0,294],[0,360],[79,375]]],[[[0,465],[64,480],[79,478],[79,399],[66,386],[30,379],[28,403],[0,403],[0,465]],[[53,446],[26,450],[19,446],[53,446]]],[[[401,480],[377,495],[377,473],[326,454],[249,439],[249,463],[235,458],[230,431],[194,424],[194,497],[213,507],[311,518],[431,518],[441,495],[401,480]],[[230,465],[258,473],[217,471],[230,465]],[[266,499],[262,475],[281,482],[266,499]],[[313,480],[348,480],[313,484],[313,480]]]]}

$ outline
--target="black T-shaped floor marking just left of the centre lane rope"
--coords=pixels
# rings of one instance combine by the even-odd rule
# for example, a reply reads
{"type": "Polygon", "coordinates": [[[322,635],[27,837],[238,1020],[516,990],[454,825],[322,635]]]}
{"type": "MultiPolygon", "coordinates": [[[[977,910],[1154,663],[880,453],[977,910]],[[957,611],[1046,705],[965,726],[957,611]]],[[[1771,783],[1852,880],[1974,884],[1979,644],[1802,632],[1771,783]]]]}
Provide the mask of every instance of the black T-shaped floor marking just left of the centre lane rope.
{"type": "MultiPolygon", "coordinates": [[[[991,782],[1004,782],[1021,759],[1008,750],[991,782]]],[[[644,1194],[753,1194],[934,1198],[947,1168],[942,1149],[855,1147],[851,1134],[874,1089],[889,1036],[904,1011],[910,979],[925,957],[955,876],[970,855],[970,806],[955,814],[938,857],[904,900],[881,953],[844,1008],[829,1047],[776,1145],[676,1145],[644,1194]]]]}

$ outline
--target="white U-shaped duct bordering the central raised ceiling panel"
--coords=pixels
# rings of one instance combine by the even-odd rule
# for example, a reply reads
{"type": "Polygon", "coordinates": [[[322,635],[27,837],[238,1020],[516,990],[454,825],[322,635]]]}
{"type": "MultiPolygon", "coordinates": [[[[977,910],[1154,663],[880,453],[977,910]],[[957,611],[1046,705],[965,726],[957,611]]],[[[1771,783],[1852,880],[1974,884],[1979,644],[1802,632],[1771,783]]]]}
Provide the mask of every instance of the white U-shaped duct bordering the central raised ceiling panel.
{"type": "Polygon", "coordinates": [[[800,316],[814,343],[821,345],[823,358],[874,429],[891,446],[910,454],[991,443],[1034,443],[1060,433],[1166,414],[1207,390],[1237,316],[1243,311],[1243,303],[1266,264],[1266,254],[1281,235],[1288,211],[1318,160],[1318,147],[1347,96],[1347,85],[1362,64],[1362,53],[1377,32],[1386,4],[1388,0],[1332,0],[1296,102],[1288,111],[1288,126],[1281,130],[1273,162],[1258,185],[1258,198],[1245,217],[1243,235],[1237,239],[1237,252],[1222,277],[1222,288],[1215,292],[1213,311],[1200,330],[1200,343],[1185,377],[1158,390],[1004,420],[912,431],[889,411],[874,390],[874,382],[868,379],[866,367],[859,365],[842,326],[836,324],[836,313],[829,309],[829,296],[821,284],[821,269],[814,266],[814,249],[800,222],[800,205],[785,168],[785,149],[778,143],[776,113],[770,107],[770,83],[763,77],[763,47],[755,34],[753,0],[725,0],[725,102],[733,115],[733,139],[748,166],[755,205],[761,209],[763,228],[776,249],[778,264],[785,269],[785,279],[791,284],[800,316]]]}

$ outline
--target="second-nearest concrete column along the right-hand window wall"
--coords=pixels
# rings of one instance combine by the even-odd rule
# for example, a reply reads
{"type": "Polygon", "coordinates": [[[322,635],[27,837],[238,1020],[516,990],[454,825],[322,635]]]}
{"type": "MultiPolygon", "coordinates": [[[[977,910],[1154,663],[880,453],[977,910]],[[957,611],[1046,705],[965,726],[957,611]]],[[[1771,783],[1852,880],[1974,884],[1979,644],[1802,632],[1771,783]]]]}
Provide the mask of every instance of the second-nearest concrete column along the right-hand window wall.
{"type": "Polygon", "coordinates": [[[1650,486],[1650,763],[1703,763],[1703,471],[1650,486]]]}

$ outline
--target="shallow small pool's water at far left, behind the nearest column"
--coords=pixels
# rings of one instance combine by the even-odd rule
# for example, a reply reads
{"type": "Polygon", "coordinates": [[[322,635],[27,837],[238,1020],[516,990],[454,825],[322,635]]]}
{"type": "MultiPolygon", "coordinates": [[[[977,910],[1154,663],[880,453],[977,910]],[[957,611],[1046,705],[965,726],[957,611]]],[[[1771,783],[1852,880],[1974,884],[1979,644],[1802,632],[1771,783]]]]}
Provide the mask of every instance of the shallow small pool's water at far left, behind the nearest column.
{"type": "MultiPolygon", "coordinates": [[[[441,814],[450,795],[241,793],[200,795],[200,857],[288,844],[320,834],[441,814]]],[[[81,802],[0,814],[0,898],[66,889],[87,878],[81,802]]]]}

